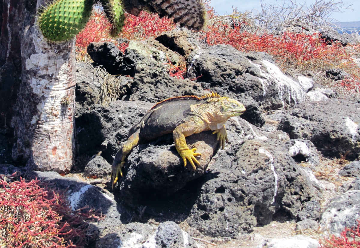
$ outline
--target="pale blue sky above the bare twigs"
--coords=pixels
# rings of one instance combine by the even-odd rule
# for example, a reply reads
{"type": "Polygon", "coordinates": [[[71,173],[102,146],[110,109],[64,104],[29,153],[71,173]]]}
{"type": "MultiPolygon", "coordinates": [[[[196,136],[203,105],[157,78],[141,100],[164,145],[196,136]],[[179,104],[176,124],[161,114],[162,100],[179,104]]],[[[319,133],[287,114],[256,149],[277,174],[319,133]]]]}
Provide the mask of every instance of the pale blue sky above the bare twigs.
{"type": "MultiPolygon", "coordinates": [[[[295,0],[293,0],[295,1],[295,0]]],[[[314,4],[316,0],[297,0],[297,4],[306,3],[310,6],[314,4]]],[[[325,0],[326,2],[330,0],[325,0]]],[[[333,0],[333,2],[339,2],[341,0],[333,0]]],[[[282,1],[278,1],[281,3],[282,1]]],[[[360,0],[342,0],[345,5],[350,5],[349,8],[353,9],[343,9],[343,13],[334,12],[331,18],[334,18],[334,22],[360,22],[360,0]]],[[[265,4],[276,4],[276,0],[264,0],[265,4]]],[[[234,8],[237,7],[240,12],[251,9],[261,9],[260,0],[211,0],[210,5],[215,9],[217,14],[231,14],[234,8]]]]}

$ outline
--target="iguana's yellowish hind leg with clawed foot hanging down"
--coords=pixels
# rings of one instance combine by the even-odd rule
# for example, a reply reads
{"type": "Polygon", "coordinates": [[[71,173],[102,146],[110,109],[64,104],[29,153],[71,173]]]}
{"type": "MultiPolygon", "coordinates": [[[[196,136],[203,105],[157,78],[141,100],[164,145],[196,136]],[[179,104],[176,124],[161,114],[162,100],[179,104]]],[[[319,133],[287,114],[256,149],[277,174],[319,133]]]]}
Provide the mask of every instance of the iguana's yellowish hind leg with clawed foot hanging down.
{"type": "Polygon", "coordinates": [[[112,164],[111,171],[111,182],[112,187],[116,184],[119,174],[122,177],[122,167],[125,164],[126,156],[131,152],[131,150],[139,144],[139,133],[140,129],[136,130],[135,133],[131,134],[131,136],[127,139],[127,141],[122,145],[122,147],[117,151],[116,156],[114,158],[114,162],[112,164]]]}

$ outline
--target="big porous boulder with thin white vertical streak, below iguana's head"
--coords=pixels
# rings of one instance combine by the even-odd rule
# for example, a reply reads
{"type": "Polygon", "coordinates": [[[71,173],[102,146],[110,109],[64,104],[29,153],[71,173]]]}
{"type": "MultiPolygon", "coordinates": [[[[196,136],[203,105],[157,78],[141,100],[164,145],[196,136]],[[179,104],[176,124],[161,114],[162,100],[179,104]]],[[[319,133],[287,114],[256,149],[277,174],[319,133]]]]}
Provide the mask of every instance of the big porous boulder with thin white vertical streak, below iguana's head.
{"type": "Polygon", "coordinates": [[[276,139],[232,144],[209,169],[186,219],[209,236],[234,238],[269,224],[275,213],[299,219],[315,195],[308,176],[276,139]]]}

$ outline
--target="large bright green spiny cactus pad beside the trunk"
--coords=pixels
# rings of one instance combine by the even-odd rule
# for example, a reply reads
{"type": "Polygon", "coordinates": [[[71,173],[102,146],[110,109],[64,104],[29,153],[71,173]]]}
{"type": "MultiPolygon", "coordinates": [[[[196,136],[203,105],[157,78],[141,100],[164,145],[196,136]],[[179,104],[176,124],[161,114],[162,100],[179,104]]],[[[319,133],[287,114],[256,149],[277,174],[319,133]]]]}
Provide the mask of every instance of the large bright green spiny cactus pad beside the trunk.
{"type": "Polygon", "coordinates": [[[40,14],[38,24],[45,38],[66,41],[85,26],[93,9],[93,0],[59,0],[40,14]]]}

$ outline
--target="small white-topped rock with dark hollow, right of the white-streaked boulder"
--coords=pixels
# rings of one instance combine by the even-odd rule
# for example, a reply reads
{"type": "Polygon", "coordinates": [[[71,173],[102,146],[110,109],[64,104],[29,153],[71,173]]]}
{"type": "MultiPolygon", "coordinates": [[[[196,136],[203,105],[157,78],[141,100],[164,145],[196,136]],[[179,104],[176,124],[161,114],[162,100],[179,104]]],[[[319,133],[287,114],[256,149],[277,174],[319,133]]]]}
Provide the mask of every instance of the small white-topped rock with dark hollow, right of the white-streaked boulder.
{"type": "Polygon", "coordinates": [[[311,141],[305,139],[291,139],[286,142],[290,156],[297,163],[308,162],[313,166],[320,164],[318,151],[311,141]]]}

